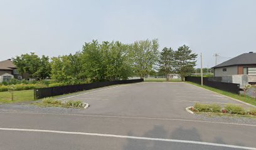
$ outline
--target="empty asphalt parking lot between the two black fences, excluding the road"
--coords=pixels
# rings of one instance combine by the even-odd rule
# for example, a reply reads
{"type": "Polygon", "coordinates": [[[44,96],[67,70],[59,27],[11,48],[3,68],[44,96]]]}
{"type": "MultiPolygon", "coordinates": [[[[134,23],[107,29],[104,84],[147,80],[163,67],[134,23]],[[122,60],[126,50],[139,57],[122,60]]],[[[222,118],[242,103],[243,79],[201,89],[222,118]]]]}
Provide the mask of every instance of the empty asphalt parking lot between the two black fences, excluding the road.
{"type": "Polygon", "coordinates": [[[153,118],[191,118],[184,110],[196,102],[244,106],[243,103],[187,83],[129,84],[60,99],[89,103],[90,108],[84,111],[88,114],[153,118]]]}

